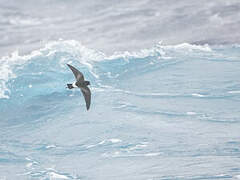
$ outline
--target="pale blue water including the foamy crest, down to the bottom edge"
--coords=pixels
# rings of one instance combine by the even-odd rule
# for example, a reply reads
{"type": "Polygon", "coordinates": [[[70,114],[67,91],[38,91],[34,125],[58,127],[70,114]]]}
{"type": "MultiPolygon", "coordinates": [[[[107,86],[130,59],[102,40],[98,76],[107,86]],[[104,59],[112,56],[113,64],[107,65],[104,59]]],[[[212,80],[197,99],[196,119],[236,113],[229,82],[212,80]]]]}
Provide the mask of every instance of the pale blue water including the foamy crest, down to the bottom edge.
{"type": "Polygon", "coordinates": [[[59,40],[1,57],[0,179],[240,178],[240,46],[105,55],[59,40]],[[74,76],[91,82],[86,111],[74,76]]]}

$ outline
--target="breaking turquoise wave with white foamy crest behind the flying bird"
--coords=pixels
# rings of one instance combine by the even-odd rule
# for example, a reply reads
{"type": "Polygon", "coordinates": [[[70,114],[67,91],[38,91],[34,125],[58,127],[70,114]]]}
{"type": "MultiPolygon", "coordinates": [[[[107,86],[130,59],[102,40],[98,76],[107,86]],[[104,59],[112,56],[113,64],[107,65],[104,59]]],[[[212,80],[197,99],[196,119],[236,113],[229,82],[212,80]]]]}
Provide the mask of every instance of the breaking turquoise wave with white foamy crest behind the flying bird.
{"type": "Polygon", "coordinates": [[[107,56],[75,40],[49,42],[27,55],[19,55],[15,51],[0,58],[0,98],[63,91],[63,82],[72,79],[67,63],[83,71],[93,88],[97,89],[108,85],[104,82],[113,83],[121,78],[141,76],[159,68],[183,63],[195,56],[195,53],[199,58],[216,54],[209,45],[183,43],[170,46],[159,43],[139,52],[116,52],[107,56]]]}

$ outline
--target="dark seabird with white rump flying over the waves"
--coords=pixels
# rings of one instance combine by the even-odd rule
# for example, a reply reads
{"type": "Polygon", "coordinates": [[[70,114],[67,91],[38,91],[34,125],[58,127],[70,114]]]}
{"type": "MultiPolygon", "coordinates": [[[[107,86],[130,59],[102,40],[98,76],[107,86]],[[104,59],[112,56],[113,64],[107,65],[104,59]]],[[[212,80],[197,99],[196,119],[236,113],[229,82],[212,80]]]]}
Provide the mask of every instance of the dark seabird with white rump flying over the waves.
{"type": "Polygon", "coordinates": [[[76,79],[76,82],[72,84],[67,84],[67,87],[69,89],[77,88],[77,87],[81,89],[86,102],[87,110],[89,110],[90,103],[91,103],[91,91],[87,86],[90,85],[90,82],[85,81],[83,74],[79,70],[77,70],[75,67],[71,66],[70,64],[67,64],[67,65],[72,70],[76,79]]]}

